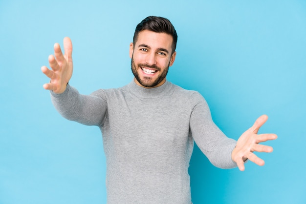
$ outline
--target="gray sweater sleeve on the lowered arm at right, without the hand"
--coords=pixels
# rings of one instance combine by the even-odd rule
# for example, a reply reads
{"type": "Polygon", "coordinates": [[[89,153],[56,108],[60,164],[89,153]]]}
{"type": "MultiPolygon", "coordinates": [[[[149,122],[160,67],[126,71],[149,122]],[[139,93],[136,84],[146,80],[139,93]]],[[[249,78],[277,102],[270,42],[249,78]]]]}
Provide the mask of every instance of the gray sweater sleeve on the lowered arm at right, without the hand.
{"type": "Polygon", "coordinates": [[[197,146],[213,165],[219,168],[236,167],[231,159],[236,141],[226,137],[213,122],[208,104],[198,92],[193,94],[191,104],[190,128],[197,146]]]}

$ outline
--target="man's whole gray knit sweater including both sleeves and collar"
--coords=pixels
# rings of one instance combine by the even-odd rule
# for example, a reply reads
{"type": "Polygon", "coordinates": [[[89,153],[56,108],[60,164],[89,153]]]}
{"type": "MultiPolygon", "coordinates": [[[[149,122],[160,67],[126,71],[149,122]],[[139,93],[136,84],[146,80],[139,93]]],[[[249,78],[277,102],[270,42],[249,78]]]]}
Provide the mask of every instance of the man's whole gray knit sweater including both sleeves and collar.
{"type": "Polygon", "coordinates": [[[215,166],[236,167],[236,141],[215,125],[196,91],[168,81],[152,89],[131,82],[81,95],[67,85],[51,99],[66,119],[100,127],[109,204],[190,204],[194,141],[215,166]]]}

